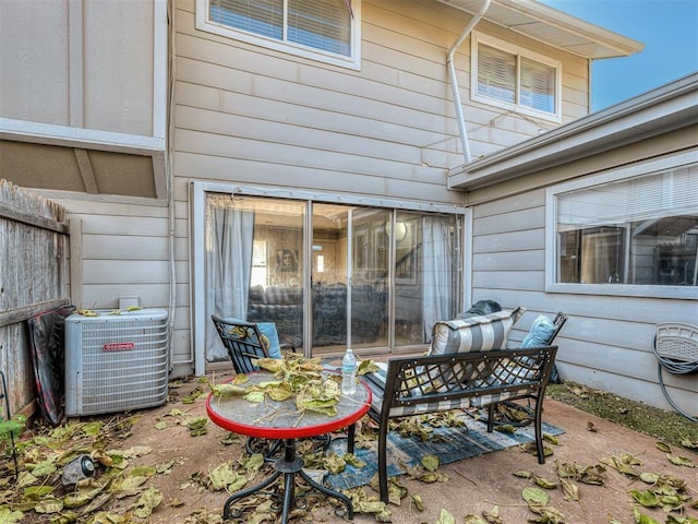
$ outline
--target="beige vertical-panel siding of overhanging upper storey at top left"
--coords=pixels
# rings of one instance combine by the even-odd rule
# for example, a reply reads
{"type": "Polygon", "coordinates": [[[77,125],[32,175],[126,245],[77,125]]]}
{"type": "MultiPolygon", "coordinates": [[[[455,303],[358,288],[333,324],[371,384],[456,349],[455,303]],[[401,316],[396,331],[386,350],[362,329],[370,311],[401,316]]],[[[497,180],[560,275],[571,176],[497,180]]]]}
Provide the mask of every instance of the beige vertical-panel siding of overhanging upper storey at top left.
{"type": "Polygon", "coordinates": [[[0,3],[1,117],[154,134],[154,2],[0,3]]]}

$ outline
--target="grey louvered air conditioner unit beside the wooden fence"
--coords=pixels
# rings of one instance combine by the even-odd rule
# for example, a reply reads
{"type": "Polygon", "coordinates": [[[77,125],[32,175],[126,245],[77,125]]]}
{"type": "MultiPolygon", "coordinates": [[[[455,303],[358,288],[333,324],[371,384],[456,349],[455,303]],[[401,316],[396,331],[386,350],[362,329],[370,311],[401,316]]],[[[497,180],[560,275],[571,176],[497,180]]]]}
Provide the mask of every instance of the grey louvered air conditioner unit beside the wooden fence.
{"type": "Polygon", "coordinates": [[[167,400],[167,311],[97,310],[65,319],[65,415],[157,406],[167,400]]]}

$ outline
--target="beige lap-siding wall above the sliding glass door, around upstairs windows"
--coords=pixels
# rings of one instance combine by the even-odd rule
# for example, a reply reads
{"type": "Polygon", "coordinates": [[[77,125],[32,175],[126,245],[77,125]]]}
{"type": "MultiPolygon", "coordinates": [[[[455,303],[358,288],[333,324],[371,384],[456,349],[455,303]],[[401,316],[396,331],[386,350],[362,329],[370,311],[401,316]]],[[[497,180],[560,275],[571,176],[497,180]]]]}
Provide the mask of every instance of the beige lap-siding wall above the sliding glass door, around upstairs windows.
{"type": "MultiPolygon", "coordinates": [[[[178,245],[192,181],[461,204],[445,187],[462,163],[446,55],[470,20],[431,1],[362,1],[361,69],[344,69],[196,28],[195,0],[173,10],[172,175],[178,245]]],[[[482,22],[478,31],[563,63],[563,121],[588,112],[588,63],[482,22]]],[[[456,53],[472,153],[534,136],[530,118],[470,100],[470,46],[456,53]]],[[[186,257],[186,254],[184,254],[186,257]]],[[[192,261],[178,261],[178,289],[192,261]]],[[[191,302],[178,294],[178,324],[191,302]]],[[[190,311],[191,312],[191,311],[190,311]]],[[[180,323],[182,322],[182,323],[180,323]]],[[[184,340],[174,341],[185,354],[184,340]]]]}

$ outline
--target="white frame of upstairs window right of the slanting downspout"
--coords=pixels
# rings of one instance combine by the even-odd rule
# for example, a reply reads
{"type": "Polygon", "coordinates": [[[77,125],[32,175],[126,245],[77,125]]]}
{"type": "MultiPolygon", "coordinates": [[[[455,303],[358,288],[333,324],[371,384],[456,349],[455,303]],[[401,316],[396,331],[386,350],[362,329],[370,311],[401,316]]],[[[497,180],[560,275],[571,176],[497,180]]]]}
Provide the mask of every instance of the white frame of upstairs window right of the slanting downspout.
{"type": "MultiPolygon", "coordinates": [[[[552,122],[561,123],[562,122],[562,93],[563,93],[562,78],[563,78],[563,67],[562,67],[562,62],[559,62],[558,60],[554,60],[550,57],[539,55],[535,51],[531,51],[529,49],[525,49],[522,47],[508,44],[493,36],[484,35],[478,32],[472,33],[472,36],[470,38],[470,98],[473,102],[479,102],[481,104],[488,104],[490,106],[501,107],[502,109],[507,109],[509,111],[527,115],[529,117],[540,118],[542,120],[549,120],[552,122]],[[502,51],[509,52],[512,55],[517,55],[524,58],[528,58],[529,60],[534,60],[537,62],[544,63],[545,66],[550,66],[551,68],[554,68],[555,69],[555,114],[538,111],[530,107],[521,106],[518,104],[510,104],[504,100],[497,100],[496,98],[491,98],[489,96],[478,95],[478,44],[479,43],[482,43],[486,46],[494,47],[502,51]]],[[[518,84],[517,84],[517,90],[518,90],[518,84]]]]}

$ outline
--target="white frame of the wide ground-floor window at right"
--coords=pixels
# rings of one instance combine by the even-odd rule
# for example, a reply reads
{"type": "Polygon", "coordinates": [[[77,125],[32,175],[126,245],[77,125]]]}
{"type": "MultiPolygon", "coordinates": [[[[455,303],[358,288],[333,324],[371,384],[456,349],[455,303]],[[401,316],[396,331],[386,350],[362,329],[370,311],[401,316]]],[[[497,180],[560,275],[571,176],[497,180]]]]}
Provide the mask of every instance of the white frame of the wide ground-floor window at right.
{"type": "Polygon", "coordinates": [[[570,284],[555,282],[557,277],[557,194],[602,183],[671,169],[698,162],[698,150],[658,159],[637,163],[624,168],[603,171],[580,180],[553,186],[545,190],[545,291],[619,297],[651,297],[698,300],[695,286],[642,286],[633,284],[570,284]]]}

